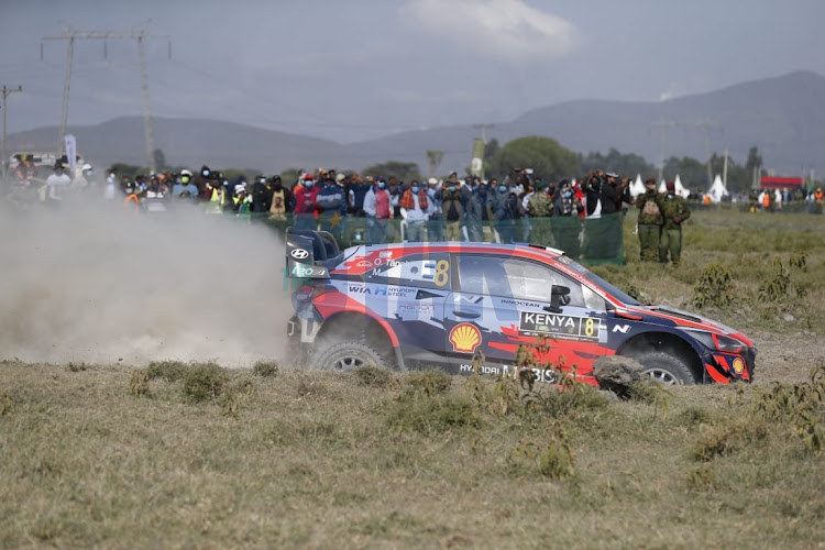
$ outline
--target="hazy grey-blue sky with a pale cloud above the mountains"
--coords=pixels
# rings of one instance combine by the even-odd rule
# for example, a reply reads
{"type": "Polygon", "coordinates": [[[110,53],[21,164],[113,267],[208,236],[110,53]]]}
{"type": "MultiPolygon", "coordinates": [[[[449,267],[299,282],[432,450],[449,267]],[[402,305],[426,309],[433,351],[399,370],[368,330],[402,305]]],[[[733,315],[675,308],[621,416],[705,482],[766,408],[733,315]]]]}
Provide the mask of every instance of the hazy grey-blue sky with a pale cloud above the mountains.
{"type": "MultiPolygon", "coordinates": [[[[0,0],[8,131],[59,125],[67,36],[140,32],[154,117],[341,143],[825,75],[821,0],[0,0]]],[[[68,127],[142,112],[135,40],[76,40],[68,127]]]]}

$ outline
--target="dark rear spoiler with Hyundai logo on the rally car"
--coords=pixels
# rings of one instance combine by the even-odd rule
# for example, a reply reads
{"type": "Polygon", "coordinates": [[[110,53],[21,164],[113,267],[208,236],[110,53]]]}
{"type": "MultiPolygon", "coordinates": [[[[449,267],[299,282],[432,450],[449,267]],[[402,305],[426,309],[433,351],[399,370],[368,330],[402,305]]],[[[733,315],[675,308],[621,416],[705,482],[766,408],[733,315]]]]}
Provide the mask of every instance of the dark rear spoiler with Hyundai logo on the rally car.
{"type": "Polygon", "coordinates": [[[341,260],[336,238],[327,231],[286,230],[286,268],[289,277],[329,278],[329,267],[341,260]]]}

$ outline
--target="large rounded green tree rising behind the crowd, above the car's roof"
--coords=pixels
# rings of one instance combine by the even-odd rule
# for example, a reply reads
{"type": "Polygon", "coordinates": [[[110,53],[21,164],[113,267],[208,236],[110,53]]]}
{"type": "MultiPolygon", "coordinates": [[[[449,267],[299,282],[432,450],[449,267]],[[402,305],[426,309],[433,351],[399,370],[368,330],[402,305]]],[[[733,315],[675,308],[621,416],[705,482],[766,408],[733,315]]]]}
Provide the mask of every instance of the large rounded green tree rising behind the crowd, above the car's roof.
{"type": "Polygon", "coordinates": [[[487,160],[488,177],[502,179],[513,168],[532,168],[542,178],[573,177],[579,155],[550,138],[530,135],[507,142],[487,160]]]}

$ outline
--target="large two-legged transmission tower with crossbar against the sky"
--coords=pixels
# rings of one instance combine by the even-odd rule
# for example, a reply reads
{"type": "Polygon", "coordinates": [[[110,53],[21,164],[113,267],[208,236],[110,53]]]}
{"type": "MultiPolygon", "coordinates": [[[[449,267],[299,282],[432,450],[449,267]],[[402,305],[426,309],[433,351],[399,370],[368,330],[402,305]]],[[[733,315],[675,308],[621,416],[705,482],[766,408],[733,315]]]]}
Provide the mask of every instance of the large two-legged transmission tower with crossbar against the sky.
{"type": "Polygon", "coordinates": [[[76,40],[102,40],[103,41],[103,58],[108,58],[108,40],[135,40],[138,41],[138,55],[141,62],[141,91],[143,96],[143,131],[146,138],[146,158],[148,161],[150,169],[154,172],[155,155],[154,144],[152,140],[152,118],[148,109],[148,75],[146,73],[146,56],[143,52],[144,41],[147,38],[163,38],[168,43],[168,56],[172,58],[172,40],[167,34],[151,34],[146,31],[145,24],[138,31],[77,31],[66,25],[65,32],[59,36],[43,36],[41,38],[40,57],[43,61],[43,42],[46,40],[65,40],[68,41],[66,48],[66,74],[63,82],[63,118],[61,120],[61,135],[57,144],[57,151],[64,151],[64,138],[66,136],[66,125],[68,122],[68,99],[69,88],[72,85],[72,62],[75,53],[75,41],[76,40]]]}

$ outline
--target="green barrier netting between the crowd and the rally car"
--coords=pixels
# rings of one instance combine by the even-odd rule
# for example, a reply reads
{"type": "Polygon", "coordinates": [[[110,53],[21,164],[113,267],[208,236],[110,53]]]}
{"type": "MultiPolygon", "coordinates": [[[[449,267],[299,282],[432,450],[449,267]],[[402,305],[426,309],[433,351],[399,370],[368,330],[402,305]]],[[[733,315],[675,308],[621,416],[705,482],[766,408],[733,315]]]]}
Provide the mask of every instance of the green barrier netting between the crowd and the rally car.
{"type": "Polygon", "coordinates": [[[286,228],[329,231],[341,248],[389,242],[503,242],[532,243],[563,250],[569,256],[595,264],[624,265],[624,216],[580,218],[522,218],[493,222],[462,222],[448,227],[443,221],[407,223],[402,219],[376,221],[355,217],[287,215],[272,218],[250,215],[252,222],[264,223],[284,234],[286,228]],[[458,239],[455,237],[458,235],[458,239]]]}

